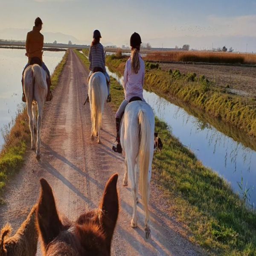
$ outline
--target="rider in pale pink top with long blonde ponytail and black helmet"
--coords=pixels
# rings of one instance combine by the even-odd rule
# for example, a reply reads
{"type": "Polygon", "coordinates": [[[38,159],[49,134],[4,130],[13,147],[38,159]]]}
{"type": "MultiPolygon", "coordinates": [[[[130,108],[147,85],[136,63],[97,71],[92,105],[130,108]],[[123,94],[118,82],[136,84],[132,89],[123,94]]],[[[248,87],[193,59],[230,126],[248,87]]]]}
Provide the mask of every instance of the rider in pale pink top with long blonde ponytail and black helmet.
{"type": "Polygon", "coordinates": [[[131,46],[131,57],[126,61],[125,72],[124,72],[124,92],[125,99],[119,106],[116,112],[116,147],[113,146],[113,151],[122,153],[122,147],[120,143],[119,129],[122,115],[125,112],[125,107],[133,97],[138,97],[145,102],[143,99],[143,84],[145,77],[145,64],[140,55],[140,35],[134,32],[130,38],[131,46]]]}

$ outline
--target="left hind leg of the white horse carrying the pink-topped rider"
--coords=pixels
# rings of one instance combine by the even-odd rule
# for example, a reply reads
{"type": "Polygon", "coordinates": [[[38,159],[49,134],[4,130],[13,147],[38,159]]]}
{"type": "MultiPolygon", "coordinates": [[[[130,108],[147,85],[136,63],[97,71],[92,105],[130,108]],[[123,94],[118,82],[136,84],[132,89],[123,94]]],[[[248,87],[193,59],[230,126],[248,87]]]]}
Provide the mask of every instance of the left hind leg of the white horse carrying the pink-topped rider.
{"type": "Polygon", "coordinates": [[[129,175],[131,177],[131,191],[133,196],[133,212],[132,212],[132,219],[131,219],[131,227],[137,227],[137,181],[136,175],[134,171],[135,163],[131,163],[132,161],[128,160],[128,169],[129,175]]]}

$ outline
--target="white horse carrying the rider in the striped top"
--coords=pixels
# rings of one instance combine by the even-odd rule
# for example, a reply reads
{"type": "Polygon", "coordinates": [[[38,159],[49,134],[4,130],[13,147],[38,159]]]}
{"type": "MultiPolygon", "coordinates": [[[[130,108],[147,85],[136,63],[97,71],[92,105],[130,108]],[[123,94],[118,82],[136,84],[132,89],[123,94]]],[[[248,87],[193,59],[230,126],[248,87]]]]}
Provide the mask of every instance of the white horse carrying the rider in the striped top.
{"type": "Polygon", "coordinates": [[[102,129],[102,113],[104,105],[108,97],[108,87],[106,77],[102,72],[95,72],[89,80],[88,95],[90,99],[90,111],[92,121],[92,140],[98,136],[100,143],[99,132],[102,129]]]}

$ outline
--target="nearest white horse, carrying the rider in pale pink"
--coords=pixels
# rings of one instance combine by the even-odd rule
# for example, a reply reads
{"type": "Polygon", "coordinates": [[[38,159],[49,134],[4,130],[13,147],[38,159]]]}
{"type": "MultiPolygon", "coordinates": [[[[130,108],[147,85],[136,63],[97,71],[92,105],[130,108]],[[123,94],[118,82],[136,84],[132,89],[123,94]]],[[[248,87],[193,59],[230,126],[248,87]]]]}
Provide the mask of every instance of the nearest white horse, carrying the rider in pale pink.
{"type": "Polygon", "coordinates": [[[150,235],[148,201],[152,159],[154,153],[154,113],[143,101],[127,105],[123,116],[120,142],[125,151],[125,175],[123,186],[131,179],[133,195],[133,214],[131,227],[137,227],[137,192],[140,175],[140,192],[145,211],[145,237],[150,235]]]}

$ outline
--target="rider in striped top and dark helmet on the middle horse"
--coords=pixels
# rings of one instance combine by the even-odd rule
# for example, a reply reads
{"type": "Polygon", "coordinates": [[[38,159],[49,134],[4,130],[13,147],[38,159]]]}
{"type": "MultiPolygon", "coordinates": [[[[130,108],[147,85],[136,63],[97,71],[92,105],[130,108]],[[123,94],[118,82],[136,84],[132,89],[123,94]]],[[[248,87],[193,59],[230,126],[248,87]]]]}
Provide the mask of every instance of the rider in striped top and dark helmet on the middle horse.
{"type": "MultiPolygon", "coordinates": [[[[103,71],[106,80],[107,80],[107,85],[108,85],[108,98],[107,98],[107,102],[111,102],[111,95],[109,93],[109,86],[110,86],[110,78],[108,76],[108,73],[106,71],[106,67],[105,67],[105,53],[104,53],[104,48],[103,45],[99,42],[101,38],[101,34],[99,32],[99,30],[94,30],[93,32],[93,41],[90,45],[90,49],[89,49],[89,61],[90,61],[90,73],[88,76],[88,81],[90,79],[90,76],[93,74],[93,72],[99,71],[99,69],[101,71],[103,71]]],[[[88,96],[87,96],[87,100],[88,100],[88,96]]]]}

